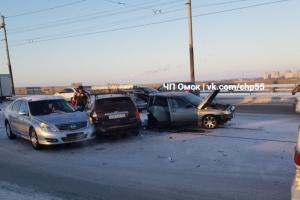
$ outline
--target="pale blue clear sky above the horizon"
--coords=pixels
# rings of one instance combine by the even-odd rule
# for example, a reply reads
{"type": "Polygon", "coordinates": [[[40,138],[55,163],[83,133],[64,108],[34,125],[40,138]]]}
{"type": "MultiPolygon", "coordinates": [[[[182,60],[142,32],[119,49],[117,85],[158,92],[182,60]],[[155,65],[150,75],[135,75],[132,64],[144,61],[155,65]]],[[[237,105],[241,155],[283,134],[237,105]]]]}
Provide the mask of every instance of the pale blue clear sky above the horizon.
{"type": "MultiPolygon", "coordinates": [[[[0,0],[16,87],[190,80],[186,0],[0,0]]],[[[300,0],[191,0],[195,80],[300,69],[300,0]]],[[[8,74],[0,29],[0,74],[8,74]]]]}

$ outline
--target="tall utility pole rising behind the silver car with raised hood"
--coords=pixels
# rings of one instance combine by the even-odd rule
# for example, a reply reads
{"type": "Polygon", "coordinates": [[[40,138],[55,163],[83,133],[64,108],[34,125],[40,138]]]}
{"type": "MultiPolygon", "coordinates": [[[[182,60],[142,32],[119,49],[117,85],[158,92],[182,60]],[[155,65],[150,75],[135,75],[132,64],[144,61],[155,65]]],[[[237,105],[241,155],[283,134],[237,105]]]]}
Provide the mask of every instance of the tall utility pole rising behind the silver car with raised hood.
{"type": "Polygon", "coordinates": [[[187,0],[187,6],[188,6],[188,23],[189,23],[190,78],[191,78],[191,82],[195,82],[191,0],[187,0]]]}

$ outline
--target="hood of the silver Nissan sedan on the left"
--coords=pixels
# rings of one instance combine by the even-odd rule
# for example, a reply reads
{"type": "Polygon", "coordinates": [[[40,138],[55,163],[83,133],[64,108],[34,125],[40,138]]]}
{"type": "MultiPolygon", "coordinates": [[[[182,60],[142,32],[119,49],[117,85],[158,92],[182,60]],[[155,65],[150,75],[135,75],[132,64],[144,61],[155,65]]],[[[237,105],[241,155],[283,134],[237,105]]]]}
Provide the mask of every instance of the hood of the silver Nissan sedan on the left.
{"type": "Polygon", "coordinates": [[[47,124],[67,124],[79,121],[87,121],[88,116],[82,112],[74,112],[74,113],[59,113],[59,114],[51,114],[51,115],[39,115],[33,116],[34,119],[45,122],[47,124]]]}

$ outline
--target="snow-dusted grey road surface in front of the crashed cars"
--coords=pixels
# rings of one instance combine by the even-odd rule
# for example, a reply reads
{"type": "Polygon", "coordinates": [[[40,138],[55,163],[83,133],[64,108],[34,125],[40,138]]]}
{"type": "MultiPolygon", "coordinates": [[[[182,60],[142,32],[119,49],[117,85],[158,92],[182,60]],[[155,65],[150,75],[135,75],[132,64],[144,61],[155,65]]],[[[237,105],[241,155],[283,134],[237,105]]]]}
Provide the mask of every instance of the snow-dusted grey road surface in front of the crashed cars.
{"type": "Polygon", "coordinates": [[[290,199],[300,115],[236,107],[212,131],[142,130],[42,151],[0,125],[0,199],[290,199]]]}

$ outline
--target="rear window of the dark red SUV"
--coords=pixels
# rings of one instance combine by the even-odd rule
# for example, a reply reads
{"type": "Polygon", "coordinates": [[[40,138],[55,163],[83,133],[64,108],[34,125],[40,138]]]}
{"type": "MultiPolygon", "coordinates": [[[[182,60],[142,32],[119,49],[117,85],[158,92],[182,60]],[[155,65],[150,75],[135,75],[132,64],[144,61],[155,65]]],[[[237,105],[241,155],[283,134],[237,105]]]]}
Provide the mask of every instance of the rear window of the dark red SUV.
{"type": "Polygon", "coordinates": [[[95,110],[124,110],[127,108],[135,108],[132,100],[129,97],[115,97],[109,99],[98,99],[96,101],[95,110]]]}

